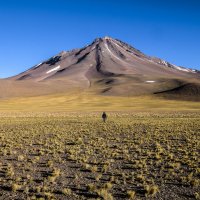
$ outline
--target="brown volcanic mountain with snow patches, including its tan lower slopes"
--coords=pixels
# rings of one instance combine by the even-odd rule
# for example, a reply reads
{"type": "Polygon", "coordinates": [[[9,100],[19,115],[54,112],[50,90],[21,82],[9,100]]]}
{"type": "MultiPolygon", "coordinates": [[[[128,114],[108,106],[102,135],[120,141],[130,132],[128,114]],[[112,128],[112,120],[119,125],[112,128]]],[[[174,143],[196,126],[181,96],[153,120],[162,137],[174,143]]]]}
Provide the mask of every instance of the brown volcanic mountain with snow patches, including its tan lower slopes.
{"type": "MultiPolygon", "coordinates": [[[[120,40],[104,37],[84,48],[62,51],[5,81],[9,86],[14,84],[19,95],[81,88],[98,94],[126,96],[173,93],[176,89],[181,93],[188,87],[198,93],[199,78],[197,70],[147,56],[120,40]]],[[[12,92],[7,94],[12,95],[12,92]]]]}

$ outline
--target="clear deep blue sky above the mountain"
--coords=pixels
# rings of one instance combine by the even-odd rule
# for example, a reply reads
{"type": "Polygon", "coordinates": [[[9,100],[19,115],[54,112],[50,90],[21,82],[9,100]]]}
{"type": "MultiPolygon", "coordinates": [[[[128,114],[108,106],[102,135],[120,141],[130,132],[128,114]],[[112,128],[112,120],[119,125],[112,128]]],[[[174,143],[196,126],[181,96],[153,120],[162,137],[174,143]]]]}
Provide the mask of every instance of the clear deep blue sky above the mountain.
{"type": "Polygon", "coordinates": [[[0,77],[110,36],[200,69],[199,0],[0,0],[0,77]]]}

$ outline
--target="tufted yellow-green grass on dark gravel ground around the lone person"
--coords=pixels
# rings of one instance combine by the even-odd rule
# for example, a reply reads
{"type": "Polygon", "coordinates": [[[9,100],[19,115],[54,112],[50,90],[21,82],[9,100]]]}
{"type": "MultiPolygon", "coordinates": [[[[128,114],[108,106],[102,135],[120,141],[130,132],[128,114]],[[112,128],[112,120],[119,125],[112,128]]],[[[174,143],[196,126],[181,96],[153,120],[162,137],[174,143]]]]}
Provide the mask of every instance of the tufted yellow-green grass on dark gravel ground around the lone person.
{"type": "Polygon", "coordinates": [[[194,112],[1,114],[0,196],[199,199],[199,125],[194,112]]]}

